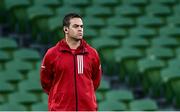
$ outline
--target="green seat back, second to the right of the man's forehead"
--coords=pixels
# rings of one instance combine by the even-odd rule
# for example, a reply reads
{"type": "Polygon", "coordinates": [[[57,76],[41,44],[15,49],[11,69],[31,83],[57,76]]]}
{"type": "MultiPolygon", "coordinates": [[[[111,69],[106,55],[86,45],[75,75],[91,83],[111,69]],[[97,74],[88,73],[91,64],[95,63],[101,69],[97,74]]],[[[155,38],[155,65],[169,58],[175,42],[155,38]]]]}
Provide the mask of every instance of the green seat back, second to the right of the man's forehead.
{"type": "Polygon", "coordinates": [[[135,26],[135,22],[130,17],[124,17],[124,16],[114,16],[107,20],[108,26],[116,26],[116,27],[132,27],[135,26]]]}

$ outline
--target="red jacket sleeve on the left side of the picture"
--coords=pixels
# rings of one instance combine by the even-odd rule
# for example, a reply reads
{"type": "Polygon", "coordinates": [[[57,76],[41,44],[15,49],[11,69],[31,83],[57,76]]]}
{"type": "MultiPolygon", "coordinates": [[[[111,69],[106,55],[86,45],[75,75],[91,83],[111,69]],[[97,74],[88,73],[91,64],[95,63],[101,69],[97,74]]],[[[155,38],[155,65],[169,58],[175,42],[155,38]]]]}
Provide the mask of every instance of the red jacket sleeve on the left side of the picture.
{"type": "Polygon", "coordinates": [[[43,58],[40,68],[41,86],[47,94],[49,94],[53,81],[52,59],[53,57],[51,55],[51,52],[48,50],[43,58]]]}

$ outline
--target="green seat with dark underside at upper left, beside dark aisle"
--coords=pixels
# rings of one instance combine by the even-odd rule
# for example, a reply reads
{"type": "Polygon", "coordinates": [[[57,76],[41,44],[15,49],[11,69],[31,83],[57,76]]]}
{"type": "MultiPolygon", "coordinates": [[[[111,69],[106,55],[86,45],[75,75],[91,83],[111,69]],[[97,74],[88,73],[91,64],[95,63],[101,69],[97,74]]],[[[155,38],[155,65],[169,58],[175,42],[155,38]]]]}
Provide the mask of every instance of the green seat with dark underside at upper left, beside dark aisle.
{"type": "Polygon", "coordinates": [[[53,11],[45,6],[34,5],[27,9],[27,17],[31,24],[32,37],[42,43],[48,42],[48,19],[54,15],[53,11]],[[40,37],[38,38],[38,36],[40,37]]]}

